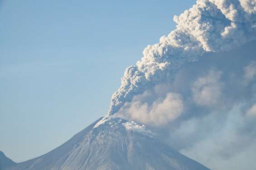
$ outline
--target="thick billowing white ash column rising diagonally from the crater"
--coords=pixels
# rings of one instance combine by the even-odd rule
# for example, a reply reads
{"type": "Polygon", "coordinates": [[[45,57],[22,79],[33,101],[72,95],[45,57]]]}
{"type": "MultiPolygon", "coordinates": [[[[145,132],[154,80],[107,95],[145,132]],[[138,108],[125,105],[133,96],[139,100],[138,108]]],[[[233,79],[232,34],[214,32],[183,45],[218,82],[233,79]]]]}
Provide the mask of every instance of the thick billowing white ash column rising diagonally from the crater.
{"type": "Polygon", "coordinates": [[[256,0],[198,0],[174,21],[177,28],[158,44],[147,46],[141,60],[126,69],[108,115],[146,89],[171,82],[181,65],[255,40],[256,0]]]}

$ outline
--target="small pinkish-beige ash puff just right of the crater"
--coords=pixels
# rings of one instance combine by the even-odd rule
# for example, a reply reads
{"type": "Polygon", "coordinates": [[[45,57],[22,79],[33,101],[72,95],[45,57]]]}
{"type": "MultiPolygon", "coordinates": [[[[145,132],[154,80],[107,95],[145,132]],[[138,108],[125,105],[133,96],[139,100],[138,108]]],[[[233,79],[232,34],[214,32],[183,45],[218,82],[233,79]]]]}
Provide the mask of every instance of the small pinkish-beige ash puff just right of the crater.
{"type": "Polygon", "coordinates": [[[159,97],[152,105],[136,98],[131,103],[126,103],[117,115],[141,123],[154,126],[167,124],[177,119],[184,111],[182,96],[177,93],[167,93],[164,98],[159,97]]]}

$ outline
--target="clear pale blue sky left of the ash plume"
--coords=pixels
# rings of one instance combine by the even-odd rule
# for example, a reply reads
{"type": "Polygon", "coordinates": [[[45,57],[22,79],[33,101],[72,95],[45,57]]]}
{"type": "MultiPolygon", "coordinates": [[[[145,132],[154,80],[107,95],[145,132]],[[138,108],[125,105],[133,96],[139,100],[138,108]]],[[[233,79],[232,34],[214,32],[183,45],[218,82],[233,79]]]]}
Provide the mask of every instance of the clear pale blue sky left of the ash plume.
{"type": "Polygon", "coordinates": [[[0,0],[0,151],[49,152],[106,115],[125,68],[195,0],[0,0]]]}

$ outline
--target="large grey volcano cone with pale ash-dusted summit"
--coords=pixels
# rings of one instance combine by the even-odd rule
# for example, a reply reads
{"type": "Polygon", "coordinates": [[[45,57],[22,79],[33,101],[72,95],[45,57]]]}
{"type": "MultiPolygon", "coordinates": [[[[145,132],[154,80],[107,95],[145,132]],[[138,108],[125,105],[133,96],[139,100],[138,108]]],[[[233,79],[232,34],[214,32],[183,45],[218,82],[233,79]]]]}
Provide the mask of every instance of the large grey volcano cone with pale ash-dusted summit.
{"type": "Polygon", "coordinates": [[[53,151],[7,170],[209,170],[142,126],[120,118],[99,120],[53,151]]]}

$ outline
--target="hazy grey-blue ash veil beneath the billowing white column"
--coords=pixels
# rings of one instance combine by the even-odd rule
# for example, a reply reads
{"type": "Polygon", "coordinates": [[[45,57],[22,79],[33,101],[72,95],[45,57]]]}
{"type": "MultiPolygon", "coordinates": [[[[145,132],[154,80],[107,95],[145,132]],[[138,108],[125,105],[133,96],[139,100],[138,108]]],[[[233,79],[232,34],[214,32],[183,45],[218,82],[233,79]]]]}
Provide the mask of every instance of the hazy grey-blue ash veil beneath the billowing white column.
{"type": "Polygon", "coordinates": [[[248,156],[256,152],[256,75],[248,81],[246,70],[254,68],[255,46],[252,41],[184,64],[172,82],[135,95],[116,116],[151,127],[162,141],[213,170],[250,169],[254,159],[248,156]],[[179,96],[179,114],[168,109],[172,102],[167,111],[153,112],[169,94],[179,96]]]}

